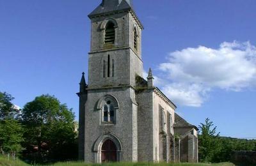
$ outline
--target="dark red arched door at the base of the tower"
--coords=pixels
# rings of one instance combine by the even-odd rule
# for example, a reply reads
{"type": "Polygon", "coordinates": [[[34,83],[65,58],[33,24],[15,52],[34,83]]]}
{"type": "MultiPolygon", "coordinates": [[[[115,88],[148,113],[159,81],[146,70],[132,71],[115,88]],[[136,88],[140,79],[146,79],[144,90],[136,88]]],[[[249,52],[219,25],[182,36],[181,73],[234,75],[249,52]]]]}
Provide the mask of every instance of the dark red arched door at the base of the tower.
{"type": "Polygon", "coordinates": [[[101,147],[101,162],[116,162],[116,153],[115,143],[110,139],[106,140],[101,147]]]}

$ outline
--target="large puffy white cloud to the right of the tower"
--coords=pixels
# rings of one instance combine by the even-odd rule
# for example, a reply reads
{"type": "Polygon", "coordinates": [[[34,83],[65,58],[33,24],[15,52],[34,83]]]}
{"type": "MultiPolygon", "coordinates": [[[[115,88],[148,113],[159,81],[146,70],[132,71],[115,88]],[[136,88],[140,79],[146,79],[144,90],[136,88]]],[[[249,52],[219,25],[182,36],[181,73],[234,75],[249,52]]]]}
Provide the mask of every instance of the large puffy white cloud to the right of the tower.
{"type": "Polygon", "coordinates": [[[200,107],[214,88],[241,91],[256,81],[256,47],[223,42],[219,49],[199,46],[171,52],[159,65],[164,93],[180,105],[200,107]],[[164,81],[163,81],[164,80],[164,81]]]}

